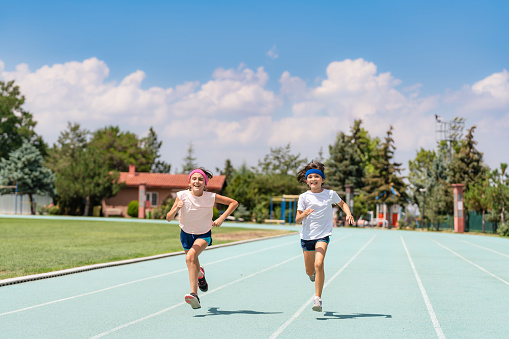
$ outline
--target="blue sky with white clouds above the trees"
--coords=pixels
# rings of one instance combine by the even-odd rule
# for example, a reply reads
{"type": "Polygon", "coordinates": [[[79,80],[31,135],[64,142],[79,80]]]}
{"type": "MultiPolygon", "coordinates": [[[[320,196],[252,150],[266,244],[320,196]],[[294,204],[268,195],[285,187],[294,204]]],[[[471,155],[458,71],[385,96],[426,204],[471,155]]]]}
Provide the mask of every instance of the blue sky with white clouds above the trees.
{"type": "Polygon", "coordinates": [[[4,1],[0,80],[52,145],[68,122],[163,142],[161,159],[256,166],[271,148],[328,157],[362,119],[393,126],[408,168],[436,119],[465,119],[509,162],[507,1],[4,1]]]}

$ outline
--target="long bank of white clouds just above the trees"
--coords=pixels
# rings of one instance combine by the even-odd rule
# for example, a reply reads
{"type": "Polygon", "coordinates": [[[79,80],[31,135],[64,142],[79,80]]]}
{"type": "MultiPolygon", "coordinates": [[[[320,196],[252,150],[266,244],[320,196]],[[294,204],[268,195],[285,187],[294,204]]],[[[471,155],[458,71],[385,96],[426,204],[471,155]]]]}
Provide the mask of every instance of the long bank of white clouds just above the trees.
{"type": "Polygon", "coordinates": [[[180,168],[189,142],[200,164],[209,168],[222,167],[226,158],[236,165],[256,165],[270,147],[288,142],[295,153],[311,159],[321,147],[327,150],[339,131],[348,131],[354,119],[363,119],[372,136],[383,137],[393,125],[396,157],[406,166],[417,149],[434,147],[435,113],[477,124],[479,148],[490,166],[509,160],[509,151],[499,147],[509,144],[506,70],[428,97],[420,96],[420,84],[399,89],[399,79],[378,73],[374,63],[363,59],[330,63],[326,78],[316,84],[283,72],[279,94],[267,89],[263,67],[242,64],[218,68],[204,83],[174,88],[144,89],[141,70],[118,82],[108,76],[108,66],[97,58],[35,71],[26,64],[6,71],[0,60],[0,79],[16,80],[46,141],[54,142],[67,121],[91,130],[120,125],[140,135],[154,126],[163,140],[161,153],[174,169],[180,168]]]}

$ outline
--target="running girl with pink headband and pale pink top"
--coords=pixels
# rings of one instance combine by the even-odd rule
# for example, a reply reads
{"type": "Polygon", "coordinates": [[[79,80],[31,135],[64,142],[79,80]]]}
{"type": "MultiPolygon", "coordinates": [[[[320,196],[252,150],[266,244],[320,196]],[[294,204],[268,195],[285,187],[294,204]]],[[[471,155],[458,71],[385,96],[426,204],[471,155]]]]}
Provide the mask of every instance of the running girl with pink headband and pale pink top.
{"type": "Polygon", "coordinates": [[[189,189],[177,192],[177,198],[171,210],[166,214],[166,220],[171,221],[180,211],[180,242],[186,253],[187,270],[191,293],[184,299],[192,308],[200,308],[198,288],[207,292],[209,285],[205,280],[205,270],[200,266],[198,256],[212,244],[212,226],[221,226],[224,220],[237,208],[238,202],[222,195],[207,192],[207,183],[212,179],[212,173],[197,168],[189,174],[189,189]],[[215,203],[227,205],[226,211],[219,218],[212,221],[215,203]]]}

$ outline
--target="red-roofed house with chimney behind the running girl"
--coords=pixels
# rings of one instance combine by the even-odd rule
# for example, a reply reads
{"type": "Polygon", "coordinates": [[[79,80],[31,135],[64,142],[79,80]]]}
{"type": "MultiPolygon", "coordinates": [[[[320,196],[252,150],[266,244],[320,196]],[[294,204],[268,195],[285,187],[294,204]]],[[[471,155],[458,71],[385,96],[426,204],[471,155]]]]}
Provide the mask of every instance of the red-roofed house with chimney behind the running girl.
{"type": "MultiPolygon", "coordinates": [[[[129,172],[120,172],[119,182],[125,187],[116,196],[103,199],[102,210],[105,217],[116,215],[127,217],[127,205],[138,200],[138,218],[145,218],[149,211],[169,198],[175,198],[178,191],[189,187],[187,174],[136,172],[133,165],[129,172]]],[[[207,184],[209,192],[220,193],[226,177],[215,175],[207,184]]]]}

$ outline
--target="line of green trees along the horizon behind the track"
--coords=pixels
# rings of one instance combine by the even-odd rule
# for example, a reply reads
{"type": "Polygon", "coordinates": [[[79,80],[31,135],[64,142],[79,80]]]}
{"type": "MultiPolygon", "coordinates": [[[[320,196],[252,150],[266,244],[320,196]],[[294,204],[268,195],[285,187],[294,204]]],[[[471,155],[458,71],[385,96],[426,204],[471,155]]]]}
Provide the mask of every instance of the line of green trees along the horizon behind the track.
{"type": "MultiPolygon", "coordinates": [[[[36,122],[23,109],[24,102],[13,81],[0,81],[0,185],[17,183],[19,191],[30,197],[44,193],[54,196],[62,213],[89,215],[90,206],[122,189],[119,172],[128,171],[129,165],[135,165],[140,172],[171,171],[171,165],[160,159],[162,142],[152,128],[148,136],[139,137],[121,131],[118,126],[88,131],[77,123],[68,123],[50,147],[35,132],[36,122]]],[[[326,159],[322,150],[314,159],[303,158],[287,144],[270,148],[257,166],[242,164],[235,168],[226,159],[224,168],[216,168],[216,172],[226,176],[224,194],[241,204],[237,216],[249,220],[270,217],[271,196],[305,191],[295,175],[308,161],[318,160],[326,165],[329,188],[344,193],[346,185],[354,186],[356,218],[366,217],[376,204],[415,203],[421,207],[426,201],[426,215],[421,218],[438,223],[452,214],[451,184],[463,183],[468,210],[504,223],[505,202],[509,197],[507,165],[502,163],[499,169],[490,169],[476,148],[475,126],[463,136],[457,127],[463,120],[454,121],[453,131],[457,133],[451,135],[449,142],[437,143],[434,149],[418,150],[408,163],[407,177],[402,175],[402,164],[394,160],[393,127],[383,138],[373,137],[362,120],[355,120],[347,132],[338,132],[328,146],[326,159]]],[[[182,172],[196,167],[196,160],[190,144],[182,172]]],[[[280,211],[276,208],[276,216],[284,217],[277,213],[280,211]]]]}

